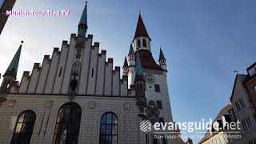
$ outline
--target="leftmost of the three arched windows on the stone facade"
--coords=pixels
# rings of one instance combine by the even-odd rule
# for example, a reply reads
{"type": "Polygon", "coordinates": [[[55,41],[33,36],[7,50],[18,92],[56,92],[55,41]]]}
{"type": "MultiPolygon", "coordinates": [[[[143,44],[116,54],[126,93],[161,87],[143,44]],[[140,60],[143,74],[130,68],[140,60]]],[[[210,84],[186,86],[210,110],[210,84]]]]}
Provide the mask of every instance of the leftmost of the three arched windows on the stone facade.
{"type": "Polygon", "coordinates": [[[35,118],[36,114],[32,110],[26,110],[18,116],[18,120],[14,129],[14,135],[10,142],[11,144],[30,143],[31,136],[33,134],[35,118]]]}

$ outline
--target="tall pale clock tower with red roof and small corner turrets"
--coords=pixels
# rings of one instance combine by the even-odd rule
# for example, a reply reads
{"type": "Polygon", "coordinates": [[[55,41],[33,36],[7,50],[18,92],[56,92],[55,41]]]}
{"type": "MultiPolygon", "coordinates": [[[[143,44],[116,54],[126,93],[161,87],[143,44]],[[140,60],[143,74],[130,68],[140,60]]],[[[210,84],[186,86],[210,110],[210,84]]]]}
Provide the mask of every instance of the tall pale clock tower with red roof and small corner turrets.
{"type": "MultiPolygon", "coordinates": [[[[150,42],[151,38],[147,33],[146,26],[142,20],[142,14],[139,13],[134,39],[132,41],[132,45],[130,46],[130,52],[128,55],[128,86],[136,86],[136,95],[145,95],[145,114],[146,118],[148,118],[150,122],[173,122],[166,79],[166,58],[162,52],[162,49],[160,48],[160,54],[157,63],[151,53],[152,47],[150,46],[150,42]],[[139,81],[138,74],[140,74],[139,81]],[[141,90],[144,90],[144,93],[142,93],[141,90]],[[155,106],[155,110],[159,111],[159,114],[155,114],[157,116],[156,118],[149,118],[147,116],[147,114],[153,114],[153,111],[147,109],[148,106],[155,106]]],[[[143,106],[143,104],[145,104],[143,100],[144,99],[138,100],[138,103],[140,101],[142,102],[139,103],[140,105],[138,105],[139,109],[143,106]]],[[[142,134],[141,138],[144,139],[144,136],[145,135],[142,134]]],[[[151,141],[154,139],[153,137],[154,134],[149,134],[146,136],[146,141],[151,141]]],[[[157,140],[154,139],[154,141],[157,140]]],[[[166,140],[166,143],[172,142],[172,140],[166,140]]]]}

